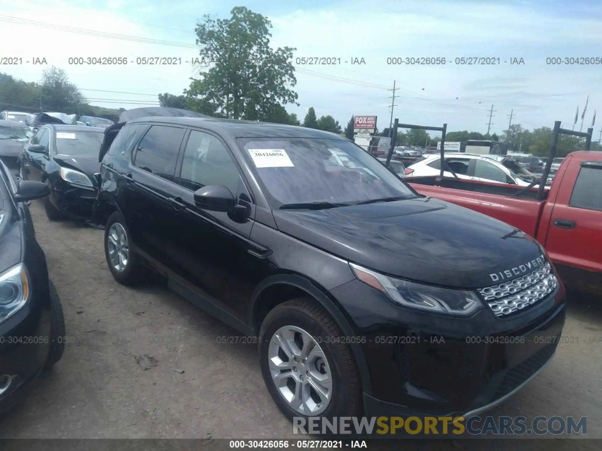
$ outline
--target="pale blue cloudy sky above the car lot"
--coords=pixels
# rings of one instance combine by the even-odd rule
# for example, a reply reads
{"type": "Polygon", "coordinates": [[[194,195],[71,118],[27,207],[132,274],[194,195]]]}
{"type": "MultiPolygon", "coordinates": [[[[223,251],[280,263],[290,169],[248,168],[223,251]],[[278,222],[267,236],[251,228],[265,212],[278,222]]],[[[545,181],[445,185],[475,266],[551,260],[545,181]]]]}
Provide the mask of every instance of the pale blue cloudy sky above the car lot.
{"type": "MultiPolygon", "coordinates": [[[[188,86],[188,78],[194,76],[192,68],[185,64],[81,67],[70,66],[69,57],[173,56],[184,60],[197,52],[6,22],[2,16],[53,27],[193,44],[197,19],[203,14],[228,17],[235,5],[244,5],[272,20],[273,46],[297,48],[295,58],[364,58],[366,64],[361,66],[296,65],[300,71],[295,90],[301,105],[288,105],[287,109],[300,118],[310,106],[318,115],[332,114],[341,124],[353,114],[376,114],[382,129],[389,123],[391,91],[387,88],[393,87],[393,80],[400,88],[394,117],[406,123],[447,122],[450,130],[486,132],[491,105],[495,110],[491,129],[498,133],[507,128],[511,111],[512,122],[529,129],[551,127],[554,120],[571,127],[576,106],[580,106],[581,115],[589,94],[585,129],[591,124],[594,109],[602,109],[602,64],[546,64],[547,57],[602,58],[602,2],[593,0],[60,0],[52,4],[14,0],[4,1],[0,13],[0,42],[6,43],[0,56],[46,57],[49,64],[67,70],[90,103],[133,108],[141,100],[156,100],[140,94],[181,93],[188,86]],[[446,57],[448,63],[386,64],[388,57],[423,56],[446,57]],[[456,57],[473,56],[499,57],[501,64],[449,63],[450,58],[455,61],[456,57]],[[525,64],[503,63],[511,58],[523,58],[525,64]]],[[[40,78],[42,67],[23,64],[0,67],[0,71],[33,81],[40,78]]],[[[600,130],[601,123],[599,118],[595,129],[600,130]]],[[[580,121],[577,128],[579,125],[580,121]]]]}

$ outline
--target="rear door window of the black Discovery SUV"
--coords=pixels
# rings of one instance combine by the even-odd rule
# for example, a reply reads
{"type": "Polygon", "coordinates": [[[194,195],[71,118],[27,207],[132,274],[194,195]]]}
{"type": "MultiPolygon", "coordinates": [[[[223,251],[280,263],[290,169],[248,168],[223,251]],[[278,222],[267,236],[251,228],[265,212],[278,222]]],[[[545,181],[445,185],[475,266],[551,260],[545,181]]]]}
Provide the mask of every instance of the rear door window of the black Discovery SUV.
{"type": "Polygon", "coordinates": [[[154,125],[138,144],[134,165],[163,179],[172,180],[176,173],[176,162],[184,128],[154,125]]]}

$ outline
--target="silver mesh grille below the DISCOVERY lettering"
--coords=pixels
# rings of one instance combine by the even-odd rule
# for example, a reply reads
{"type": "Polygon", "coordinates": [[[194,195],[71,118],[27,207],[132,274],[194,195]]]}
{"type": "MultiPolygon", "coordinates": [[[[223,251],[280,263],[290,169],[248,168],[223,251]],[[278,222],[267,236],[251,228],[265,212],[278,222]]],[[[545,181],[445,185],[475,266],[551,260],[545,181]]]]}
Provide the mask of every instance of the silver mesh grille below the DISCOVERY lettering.
{"type": "Polygon", "coordinates": [[[549,262],[531,274],[477,290],[495,316],[506,316],[545,298],[558,286],[549,262]]]}

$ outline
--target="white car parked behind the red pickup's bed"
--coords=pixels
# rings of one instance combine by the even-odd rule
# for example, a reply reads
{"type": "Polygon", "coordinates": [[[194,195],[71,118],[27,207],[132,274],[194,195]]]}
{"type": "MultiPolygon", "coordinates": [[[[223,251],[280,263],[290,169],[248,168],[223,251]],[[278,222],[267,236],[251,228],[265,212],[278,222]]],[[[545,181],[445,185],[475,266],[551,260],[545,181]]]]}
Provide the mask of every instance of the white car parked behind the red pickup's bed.
{"type": "MultiPolygon", "coordinates": [[[[483,182],[509,183],[527,186],[535,176],[503,155],[472,155],[460,152],[445,152],[445,162],[460,179],[482,180],[483,182]]],[[[438,176],[441,173],[441,155],[425,155],[406,168],[407,177],[438,176]]],[[[444,171],[445,177],[453,177],[444,171]]]]}

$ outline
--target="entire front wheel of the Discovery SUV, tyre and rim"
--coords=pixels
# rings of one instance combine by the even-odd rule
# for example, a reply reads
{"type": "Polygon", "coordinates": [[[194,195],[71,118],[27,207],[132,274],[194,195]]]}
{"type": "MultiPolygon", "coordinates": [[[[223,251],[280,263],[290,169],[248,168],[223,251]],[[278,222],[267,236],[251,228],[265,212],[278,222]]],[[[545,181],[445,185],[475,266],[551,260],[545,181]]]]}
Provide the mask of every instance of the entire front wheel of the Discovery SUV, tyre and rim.
{"type": "Polygon", "coordinates": [[[361,414],[359,370],[342,337],[334,319],[309,297],[283,302],[265,317],[259,366],[288,419],[361,414]]]}

